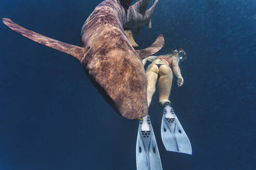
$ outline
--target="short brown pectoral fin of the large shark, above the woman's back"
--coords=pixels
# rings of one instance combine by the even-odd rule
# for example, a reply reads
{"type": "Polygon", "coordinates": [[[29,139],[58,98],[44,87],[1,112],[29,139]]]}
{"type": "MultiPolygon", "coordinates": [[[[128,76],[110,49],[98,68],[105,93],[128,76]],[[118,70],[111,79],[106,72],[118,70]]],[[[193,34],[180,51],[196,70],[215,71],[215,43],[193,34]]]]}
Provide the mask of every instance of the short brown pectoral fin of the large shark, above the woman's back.
{"type": "Polygon", "coordinates": [[[164,38],[163,38],[163,35],[160,34],[158,36],[158,38],[156,39],[156,41],[151,46],[149,46],[148,48],[145,48],[143,50],[136,50],[136,52],[138,53],[140,59],[143,60],[143,59],[147,58],[148,56],[157,53],[159,50],[161,50],[163,45],[164,45],[164,38]]]}

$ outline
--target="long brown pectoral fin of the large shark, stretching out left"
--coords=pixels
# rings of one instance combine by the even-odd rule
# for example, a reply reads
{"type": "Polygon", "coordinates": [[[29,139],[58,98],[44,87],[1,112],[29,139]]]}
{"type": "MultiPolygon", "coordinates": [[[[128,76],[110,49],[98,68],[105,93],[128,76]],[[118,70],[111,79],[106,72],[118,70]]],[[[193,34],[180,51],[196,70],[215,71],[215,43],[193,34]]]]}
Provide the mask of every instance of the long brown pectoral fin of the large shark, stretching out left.
{"type": "Polygon", "coordinates": [[[74,56],[74,58],[78,59],[79,61],[82,60],[84,56],[84,49],[78,46],[73,46],[67,43],[62,43],[61,41],[46,37],[41,34],[37,34],[33,31],[27,30],[22,26],[12,22],[8,18],[3,18],[2,21],[5,25],[7,25],[11,30],[15,31],[16,33],[21,34],[22,36],[29,38],[36,43],[45,45],[47,47],[53,48],[55,50],[65,52],[74,56]]]}

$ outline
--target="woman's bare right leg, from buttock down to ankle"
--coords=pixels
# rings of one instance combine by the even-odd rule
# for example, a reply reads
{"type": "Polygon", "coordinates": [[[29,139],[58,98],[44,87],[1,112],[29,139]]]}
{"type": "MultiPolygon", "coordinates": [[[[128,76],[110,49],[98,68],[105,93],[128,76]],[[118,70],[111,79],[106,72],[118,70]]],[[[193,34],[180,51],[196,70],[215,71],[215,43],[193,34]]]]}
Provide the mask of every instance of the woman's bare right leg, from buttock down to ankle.
{"type": "Polygon", "coordinates": [[[172,88],[172,69],[167,65],[161,65],[159,68],[158,94],[161,106],[169,101],[172,88]]]}

